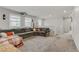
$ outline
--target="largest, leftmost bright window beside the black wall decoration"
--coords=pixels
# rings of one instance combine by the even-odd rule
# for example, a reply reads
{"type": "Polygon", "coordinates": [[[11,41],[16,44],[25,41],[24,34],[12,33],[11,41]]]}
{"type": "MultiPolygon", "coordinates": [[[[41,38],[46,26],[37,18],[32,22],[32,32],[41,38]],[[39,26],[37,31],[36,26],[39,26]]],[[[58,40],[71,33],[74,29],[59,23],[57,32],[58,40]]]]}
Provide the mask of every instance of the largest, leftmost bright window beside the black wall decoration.
{"type": "Polygon", "coordinates": [[[10,15],[10,26],[11,27],[20,27],[20,16],[10,15]]]}

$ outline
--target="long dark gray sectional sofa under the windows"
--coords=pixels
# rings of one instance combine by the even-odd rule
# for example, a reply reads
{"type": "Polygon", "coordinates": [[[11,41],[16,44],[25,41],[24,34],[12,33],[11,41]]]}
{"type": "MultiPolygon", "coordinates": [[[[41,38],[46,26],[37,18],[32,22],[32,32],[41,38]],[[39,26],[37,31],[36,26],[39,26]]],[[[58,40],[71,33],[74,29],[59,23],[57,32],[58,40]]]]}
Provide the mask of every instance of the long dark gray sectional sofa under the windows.
{"type": "Polygon", "coordinates": [[[23,38],[27,38],[30,36],[49,36],[50,29],[49,28],[35,28],[36,31],[33,31],[33,28],[20,28],[20,29],[9,29],[9,30],[0,30],[1,32],[14,32],[16,35],[19,35],[23,38]]]}

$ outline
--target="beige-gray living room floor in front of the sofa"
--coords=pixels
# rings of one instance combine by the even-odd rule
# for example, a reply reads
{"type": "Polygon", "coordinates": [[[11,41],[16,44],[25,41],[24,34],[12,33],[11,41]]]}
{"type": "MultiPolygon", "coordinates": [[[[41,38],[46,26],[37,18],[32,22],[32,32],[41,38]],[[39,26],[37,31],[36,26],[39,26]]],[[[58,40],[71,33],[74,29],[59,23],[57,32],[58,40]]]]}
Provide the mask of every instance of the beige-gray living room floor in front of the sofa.
{"type": "Polygon", "coordinates": [[[60,36],[33,36],[24,39],[22,52],[77,52],[73,39],[60,36]]]}

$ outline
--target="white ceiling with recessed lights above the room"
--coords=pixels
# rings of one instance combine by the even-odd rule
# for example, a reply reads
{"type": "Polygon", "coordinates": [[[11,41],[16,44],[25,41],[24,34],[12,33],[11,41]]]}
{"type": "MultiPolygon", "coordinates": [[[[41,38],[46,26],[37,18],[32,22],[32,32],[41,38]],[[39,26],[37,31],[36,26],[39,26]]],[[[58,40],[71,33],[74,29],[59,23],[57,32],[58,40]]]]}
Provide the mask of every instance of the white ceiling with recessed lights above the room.
{"type": "Polygon", "coordinates": [[[41,18],[60,17],[72,12],[73,6],[4,6],[18,12],[26,12],[41,18]]]}

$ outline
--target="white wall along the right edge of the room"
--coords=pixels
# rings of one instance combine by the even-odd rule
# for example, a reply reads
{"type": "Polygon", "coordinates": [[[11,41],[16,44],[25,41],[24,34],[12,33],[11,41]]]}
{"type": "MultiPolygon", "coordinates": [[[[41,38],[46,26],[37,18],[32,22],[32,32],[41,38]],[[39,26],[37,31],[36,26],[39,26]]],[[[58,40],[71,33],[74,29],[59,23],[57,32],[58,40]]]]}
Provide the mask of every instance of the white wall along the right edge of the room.
{"type": "Polygon", "coordinates": [[[72,13],[72,17],[73,17],[72,37],[79,50],[79,7],[75,7],[75,9],[72,13]]]}

